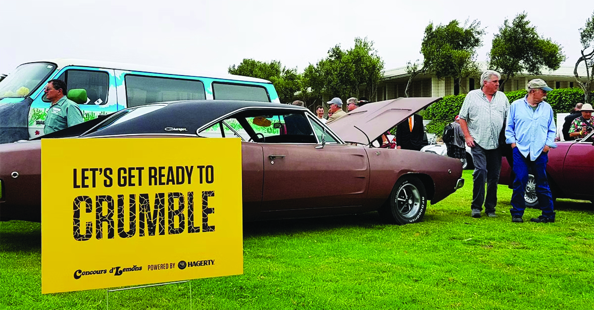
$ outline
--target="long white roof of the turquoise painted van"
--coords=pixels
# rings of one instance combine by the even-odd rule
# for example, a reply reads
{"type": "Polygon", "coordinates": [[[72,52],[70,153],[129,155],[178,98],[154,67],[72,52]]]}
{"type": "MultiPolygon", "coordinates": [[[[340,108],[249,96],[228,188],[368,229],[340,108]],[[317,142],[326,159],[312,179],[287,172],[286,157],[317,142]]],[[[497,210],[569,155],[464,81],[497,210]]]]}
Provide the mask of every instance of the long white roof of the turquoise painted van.
{"type": "Polygon", "coordinates": [[[230,79],[234,81],[246,81],[246,82],[257,82],[271,84],[266,79],[252,78],[250,76],[232,75],[225,73],[209,73],[209,72],[198,72],[187,69],[173,69],[173,68],[162,68],[157,66],[146,66],[146,65],[135,65],[132,63],[120,63],[120,62],[106,62],[100,60],[89,60],[89,59],[74,59],[74,58],[55,58],[55,59],[44,59],[37,60],[35,62],[52,62],[55,63],[58,68],[64,68],[65,66],[82,66],[91,68],[104,68],[104,69],[117,69],[124,71],[140,71],[140,72],[151,72],[151,73],[162,73],[162,74],[173,74],[173,75],[185,75],[185,76],[198,76],[203,78],[218,78],[218,79],[230,79]]]}

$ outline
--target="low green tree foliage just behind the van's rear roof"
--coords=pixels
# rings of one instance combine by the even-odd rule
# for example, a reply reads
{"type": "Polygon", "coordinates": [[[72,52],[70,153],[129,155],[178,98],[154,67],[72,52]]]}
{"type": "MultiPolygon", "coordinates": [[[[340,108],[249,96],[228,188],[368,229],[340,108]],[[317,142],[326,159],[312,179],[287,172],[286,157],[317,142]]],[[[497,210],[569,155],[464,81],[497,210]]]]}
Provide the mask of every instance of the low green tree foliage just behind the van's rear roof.
{"type": "Polygon", "coordinates": [[[290,103],[295,100],[295,92],[301,90],[301,75],[297,73],[297,69],[287,69],[278,60],[261,62],[254,59],[244,59],[237,66],[229,66],[228,72],[235,75],[267,79],[274,85],[282,103],[290,103]]]}

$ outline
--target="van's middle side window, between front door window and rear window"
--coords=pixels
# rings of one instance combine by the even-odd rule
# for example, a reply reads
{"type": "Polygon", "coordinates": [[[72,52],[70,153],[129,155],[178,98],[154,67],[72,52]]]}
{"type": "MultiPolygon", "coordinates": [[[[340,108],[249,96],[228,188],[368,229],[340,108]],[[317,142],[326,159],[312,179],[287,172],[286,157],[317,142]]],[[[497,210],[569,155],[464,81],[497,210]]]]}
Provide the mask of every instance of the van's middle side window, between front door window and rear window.
{"type": "Polygon", "coordinates": [[[205,100],[204,84],[194,79],[126,75],[128,107],[173,100],[205,100]]]}

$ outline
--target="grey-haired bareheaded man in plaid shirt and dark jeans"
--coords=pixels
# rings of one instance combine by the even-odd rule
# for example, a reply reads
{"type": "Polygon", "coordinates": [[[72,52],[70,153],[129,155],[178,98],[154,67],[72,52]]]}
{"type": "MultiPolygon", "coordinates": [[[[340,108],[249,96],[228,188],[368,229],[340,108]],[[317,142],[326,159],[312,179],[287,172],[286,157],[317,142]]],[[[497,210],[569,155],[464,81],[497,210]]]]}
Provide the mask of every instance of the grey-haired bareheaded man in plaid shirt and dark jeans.
{"type": "Polygon", "coordinates": [[[460,127],[464,133],[466,145],[470,146],[475,171],[472,174],[473,218],[480,218],[483,203],[485,214],[495,215],[497,205],[497,183],[501,171],[501,151],[499,135],[503,129],[505,116],[510,102],[499,89],[498,72],[487,70],[481,75],[481,89],[469,91],[460,109],[460,127]],[[486,199],[485,199],[485,183],[486,199]]]}

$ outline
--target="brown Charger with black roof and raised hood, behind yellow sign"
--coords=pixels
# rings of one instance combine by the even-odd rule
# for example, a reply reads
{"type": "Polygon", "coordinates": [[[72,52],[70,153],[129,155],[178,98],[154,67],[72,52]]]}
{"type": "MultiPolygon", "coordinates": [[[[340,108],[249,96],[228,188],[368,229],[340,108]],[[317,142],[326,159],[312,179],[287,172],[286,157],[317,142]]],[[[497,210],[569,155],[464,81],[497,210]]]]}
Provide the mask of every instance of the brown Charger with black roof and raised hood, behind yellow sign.
{"type": "MultiPolygon", "coordinates": [[[[65,130],[93,139],[241,138],[245,220],[380,210],[391,222],[413,223],[429,200],[463,186],[460,161],[371,142],[437,99],[366,104],[331,129],[303,107],[207,100],[132,107],[65,130]]],[[[40,220],[40,148],[39,140],[0,145],[2,220],[40,220]]]]}

